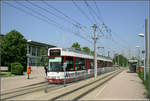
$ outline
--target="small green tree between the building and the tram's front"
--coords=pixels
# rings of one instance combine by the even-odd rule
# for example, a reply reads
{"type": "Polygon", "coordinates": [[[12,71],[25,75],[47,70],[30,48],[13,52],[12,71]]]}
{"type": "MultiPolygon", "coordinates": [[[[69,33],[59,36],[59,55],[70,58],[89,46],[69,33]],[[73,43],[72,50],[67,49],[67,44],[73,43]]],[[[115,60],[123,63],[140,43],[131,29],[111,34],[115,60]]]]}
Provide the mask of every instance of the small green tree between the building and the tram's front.
{"type": "Polygon", "coordinates": [[[40,58],[38,58],[38,62],[39,62],[42,66],[45,66],[45,64],[47,63],[47,59],[48,59],[46,48],[44,48],[44,47],[41,48],[39,55],[40,55],[40,58]]]}

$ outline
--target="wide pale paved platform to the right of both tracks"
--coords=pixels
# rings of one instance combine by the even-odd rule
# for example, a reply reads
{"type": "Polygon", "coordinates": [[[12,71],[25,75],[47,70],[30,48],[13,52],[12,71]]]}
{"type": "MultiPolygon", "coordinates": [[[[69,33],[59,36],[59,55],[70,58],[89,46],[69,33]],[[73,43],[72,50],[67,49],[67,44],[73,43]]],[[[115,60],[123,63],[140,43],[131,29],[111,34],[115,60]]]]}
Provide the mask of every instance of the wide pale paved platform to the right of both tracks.
{"type": "Polygon", "coordinates": [[[146,88],[137,73],[124,70],[81,100],[143,100],[146,88]]]}

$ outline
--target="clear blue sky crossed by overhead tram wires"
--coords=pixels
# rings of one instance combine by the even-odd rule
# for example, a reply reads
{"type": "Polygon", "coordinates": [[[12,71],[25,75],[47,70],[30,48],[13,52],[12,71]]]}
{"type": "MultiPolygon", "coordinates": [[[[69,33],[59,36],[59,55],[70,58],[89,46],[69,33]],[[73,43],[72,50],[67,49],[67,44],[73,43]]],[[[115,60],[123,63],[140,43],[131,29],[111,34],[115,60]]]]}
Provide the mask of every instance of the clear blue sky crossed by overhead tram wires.
{"type": "MultiPolygon", "coordinates": [[[[78,33],[84,36],[85,39],[93,41],[89,37],[89,34],[93,35],[93,29],[90,26],[93,26],[93,24],[100,26],[102,22],[104,22],[105,25],[111,29],[111,34],[104,33],[104,36],[100,37],[97,41],[97,46],[105,47],[105,55],[107,51],[110,51],[111,54],[115,51],[128,56],[129,49],[133,55],[136,55],[137,50],[135,46],[139,45],[143,47],[143,39],[138,37],[137,33],[145,32],[144,20],[145,18],[149,18],[148,1],[96,1],[100,12],[97,10],[93,1],[87,1],[100,18],[97,18],[95,13],[91,12],[91,9],[89,10],[84,1],[76,1],[75,3],[86,13],[86,17],[72,1],[45,2],[69,16],[70,19],[61,15],[56,10],[49,8],[41,1],[3,1],[1,4],[1,33],[6,34],[16,29],[21,32],[25,38],[30,40],[57,45],[58,47],[70,47],[74,42],[78,42],[81,44],[81,47],[88,46],[90,49],[93,49],[92,43],[74,34],[78,33]],[[5,2],[46,20],[43,16],[34,13],[32,11],[34,10],[58,23],[58,25],[55,26],[52,21],[47,21],[49,23],[41,21],[30,14],[18,10],[18,8],[11,7],[5,2]],[[52,12],[57,17],[30,3],[52,12]],[[23,7],[22,4],[29,9],[23,7]],[[96,18],[96,21],[92,15],[96,18]],[[92,19],[92,22],[89,21],[88,17],[92,19]],[[76,22],[80,23],[82,30],[68,23],[68,21],[74,24],[76,24],[76,22]],[[67,28],[67,31],[64,29],[61,30],[58,26],[67,28]],[[69,32],[68,29],[73,31],[73,33],[69,32]]],[[[97,31],[97,34],[99,34],[99,31],[97,31]]]]}

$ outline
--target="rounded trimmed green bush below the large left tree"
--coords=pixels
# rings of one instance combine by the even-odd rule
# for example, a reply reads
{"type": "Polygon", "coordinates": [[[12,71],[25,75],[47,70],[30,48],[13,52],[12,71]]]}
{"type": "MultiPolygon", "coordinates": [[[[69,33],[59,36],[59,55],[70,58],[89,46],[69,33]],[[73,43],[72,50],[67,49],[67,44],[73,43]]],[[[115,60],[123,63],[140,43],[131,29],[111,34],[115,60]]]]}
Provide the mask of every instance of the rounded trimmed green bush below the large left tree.
{"type": "Polygon", "coordinates": [[[22,75],[23,66],[19,62],[11,63],[11,73],[15,75],[22,75]]]}

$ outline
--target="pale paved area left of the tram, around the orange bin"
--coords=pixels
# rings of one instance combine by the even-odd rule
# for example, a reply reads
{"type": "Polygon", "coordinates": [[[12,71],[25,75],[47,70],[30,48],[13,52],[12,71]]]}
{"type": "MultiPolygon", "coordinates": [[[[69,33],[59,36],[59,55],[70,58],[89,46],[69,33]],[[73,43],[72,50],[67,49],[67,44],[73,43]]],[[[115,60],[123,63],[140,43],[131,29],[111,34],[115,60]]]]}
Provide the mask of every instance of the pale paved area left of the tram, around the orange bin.
{"type": "Polygon", "coordinates": [[[30,86],[38,83],[45,82],[45,71],[44,67],[33,67],[32,72],[29,75],[29,79],[27,79],[28,75],[24,72],[24,75],[14,76],[14,77],[3,77],[1,78],[1,92],[5,92],[8,90],[13,90],[25,86],[30,86]]]}

